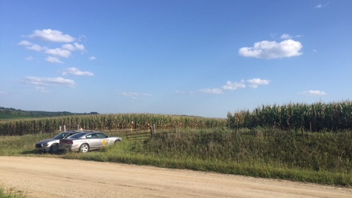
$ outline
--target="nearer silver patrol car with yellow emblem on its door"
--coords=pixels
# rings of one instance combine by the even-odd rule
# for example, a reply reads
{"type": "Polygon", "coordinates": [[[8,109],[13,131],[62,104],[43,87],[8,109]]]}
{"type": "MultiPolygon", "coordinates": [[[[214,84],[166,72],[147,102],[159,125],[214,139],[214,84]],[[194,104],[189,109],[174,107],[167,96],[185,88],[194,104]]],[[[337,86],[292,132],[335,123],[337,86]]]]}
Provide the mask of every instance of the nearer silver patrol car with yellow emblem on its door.
{"type": "Polygon", "coordinates": [[[86,153],[90,150],[117,144],[120,141],[122,141],[121,137],[109,137],[102,132],[81,132],[69,138],[61,139],[59,149],[86,153]]]}

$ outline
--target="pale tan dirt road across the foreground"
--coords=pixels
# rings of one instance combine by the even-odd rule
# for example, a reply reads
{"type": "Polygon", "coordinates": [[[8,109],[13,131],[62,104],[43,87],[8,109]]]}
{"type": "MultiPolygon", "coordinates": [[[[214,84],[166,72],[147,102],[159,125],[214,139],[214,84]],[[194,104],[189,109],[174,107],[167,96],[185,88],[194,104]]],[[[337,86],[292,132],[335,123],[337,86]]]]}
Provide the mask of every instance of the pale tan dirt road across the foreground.
{"type": "Polygon", "coordinates": [[[352,188],[44,157],[0,156],[0,184],[30,198],[352,197],[352,188]]]}

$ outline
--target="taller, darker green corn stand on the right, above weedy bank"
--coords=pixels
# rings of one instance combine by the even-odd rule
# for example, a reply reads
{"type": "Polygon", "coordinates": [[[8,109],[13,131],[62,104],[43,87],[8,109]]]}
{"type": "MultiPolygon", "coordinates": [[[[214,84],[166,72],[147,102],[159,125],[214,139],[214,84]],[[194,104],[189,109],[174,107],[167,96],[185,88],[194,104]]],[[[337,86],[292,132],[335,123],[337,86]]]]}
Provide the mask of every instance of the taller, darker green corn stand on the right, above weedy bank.
{"type": "Polygon", "coordinates": [[[263,105],[253,111],[229,112],[227,125],[232,129],[257,126],[312,131],[352,129],[352,102],[263,105]]]}

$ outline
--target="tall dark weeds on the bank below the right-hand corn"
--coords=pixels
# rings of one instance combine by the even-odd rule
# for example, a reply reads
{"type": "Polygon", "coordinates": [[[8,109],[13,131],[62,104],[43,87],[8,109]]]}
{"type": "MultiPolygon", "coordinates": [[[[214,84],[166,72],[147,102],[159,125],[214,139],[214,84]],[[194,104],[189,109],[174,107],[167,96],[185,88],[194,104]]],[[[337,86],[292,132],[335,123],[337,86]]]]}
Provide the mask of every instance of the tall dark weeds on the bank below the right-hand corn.
{"type": "Polygon", "coordinates": [[[352,174],[352,132],[306,133],[256,128],[156,134],[135,151],[172,158],[260,163],[352,174]]]}

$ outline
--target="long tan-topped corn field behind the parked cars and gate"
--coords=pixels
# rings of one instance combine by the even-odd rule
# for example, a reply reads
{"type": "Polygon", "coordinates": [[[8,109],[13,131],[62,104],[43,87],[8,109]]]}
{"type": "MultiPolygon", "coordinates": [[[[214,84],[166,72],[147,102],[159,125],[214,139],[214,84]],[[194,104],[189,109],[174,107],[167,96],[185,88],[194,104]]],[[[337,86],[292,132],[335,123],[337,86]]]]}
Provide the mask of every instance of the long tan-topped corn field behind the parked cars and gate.
{"type": "Polygon", "coordinates": [[[147,124],[155,124],[157,129],[169,129],[175,128],[175,126],[178,128],[196,129],[226,126],[226,119],[217,118],[156,114],[108,114],[19,119],[0,122],[0,135],[54,132],[59,130],[59,126],[63,125],[66,125],[66,129],[76,129],[77,124],[83,129],[90,130],[122,130],[129,129],[132,121],[136,129],[146,128],[147,124]]]}

